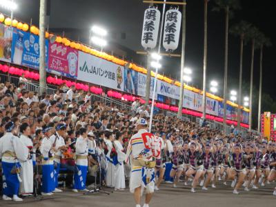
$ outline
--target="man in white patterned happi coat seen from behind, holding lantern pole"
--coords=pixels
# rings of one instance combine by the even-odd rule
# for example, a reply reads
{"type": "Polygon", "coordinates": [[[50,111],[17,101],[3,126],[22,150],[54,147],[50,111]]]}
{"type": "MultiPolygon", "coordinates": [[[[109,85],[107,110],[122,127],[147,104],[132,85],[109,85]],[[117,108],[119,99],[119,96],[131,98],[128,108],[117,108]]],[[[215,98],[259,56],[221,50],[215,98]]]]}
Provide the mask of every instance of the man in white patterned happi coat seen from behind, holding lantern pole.
{"type": "Polygon", "coordinates": [[[155,158],[160,156],[161,145],[147,131],[146,119],[137,120],[137,134],[128,144],[126,162],[130,161],[130,193],[134,193],[136,207],[140,207],[141,195],[146,189],[144,207],[148,207],[155,189],[155,158]]]}

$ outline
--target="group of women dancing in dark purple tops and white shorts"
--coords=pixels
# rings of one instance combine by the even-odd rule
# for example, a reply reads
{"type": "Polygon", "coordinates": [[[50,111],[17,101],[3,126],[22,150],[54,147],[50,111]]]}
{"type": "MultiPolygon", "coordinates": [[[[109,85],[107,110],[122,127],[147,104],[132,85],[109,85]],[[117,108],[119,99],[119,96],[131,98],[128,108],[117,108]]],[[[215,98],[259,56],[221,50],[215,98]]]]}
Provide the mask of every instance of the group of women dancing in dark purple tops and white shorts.
{"type": "MultiPolygon", "coordinates": [[[[242,186],[249,191],[276,179],[276,143],[271,141],[257,144],[235,139],[228,142],[222,139],[185,142],[162,139],[161,143],[163,147],[161,159],[157,160],[157,171],[164,175],[165,163],[170,161],[174,188],[177,188],[182,175],[185,185],[188,180],[193,180],[192,193],[196,192],[198,185],[202,190],[208,190],[210,182],[210,186],[216,188],[217,181],[223,181],[225,186],[226,181],[232,181],[233,193],[239,194],[242,186]]],[[[160,183],[161,179],[158,179],[156,190],[159,190],[160,183]]],[[[276,195],[276,188],[273,195],[276,195]]]]}

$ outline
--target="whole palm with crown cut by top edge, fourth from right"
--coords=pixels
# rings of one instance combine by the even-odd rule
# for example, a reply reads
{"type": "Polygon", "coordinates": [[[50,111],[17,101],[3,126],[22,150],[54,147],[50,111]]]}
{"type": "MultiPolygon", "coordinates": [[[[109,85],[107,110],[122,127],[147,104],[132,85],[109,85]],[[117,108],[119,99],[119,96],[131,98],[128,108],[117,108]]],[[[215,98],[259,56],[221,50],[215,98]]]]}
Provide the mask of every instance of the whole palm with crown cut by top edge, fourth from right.
{"type": "Polygon", "coordinates": [[[228,29],[229,19],[233,11],[240,9],[239,0],[215,0],[213,11],[225,12],[225,51],[224,51],[224,132],[226,132],[226,101],[227,101],[227,75],[228,75],[228,29]]]}

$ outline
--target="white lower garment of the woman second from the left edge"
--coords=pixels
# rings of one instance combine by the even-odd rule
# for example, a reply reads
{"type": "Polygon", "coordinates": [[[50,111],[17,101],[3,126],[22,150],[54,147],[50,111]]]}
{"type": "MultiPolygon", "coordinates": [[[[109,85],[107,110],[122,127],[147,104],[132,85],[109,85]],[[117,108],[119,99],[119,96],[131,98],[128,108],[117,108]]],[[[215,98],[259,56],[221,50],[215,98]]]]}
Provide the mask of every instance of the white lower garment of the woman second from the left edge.
{"type": "Polygon", "coordinates": [[[28,159],[27,161],[20,162],[20,164],[21,164],[20,178],[22,182],[20,183],[19,194],[33,193],[34,172],[33,172],[33,166],[32,166],[32,159],[28,159]]]}

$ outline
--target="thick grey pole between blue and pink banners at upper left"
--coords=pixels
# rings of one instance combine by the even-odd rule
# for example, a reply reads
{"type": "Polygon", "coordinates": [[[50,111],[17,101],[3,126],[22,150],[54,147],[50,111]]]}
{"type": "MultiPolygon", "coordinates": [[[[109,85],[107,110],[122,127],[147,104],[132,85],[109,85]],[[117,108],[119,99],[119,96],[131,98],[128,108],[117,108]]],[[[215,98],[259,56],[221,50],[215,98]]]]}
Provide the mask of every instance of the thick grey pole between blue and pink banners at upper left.
{"type": "Polygon", "coordinates": [[[40,0],[39,8],[39,95],[46,90],[46,68],[45,68],[45,20],[46,0],[40,0]]]}

